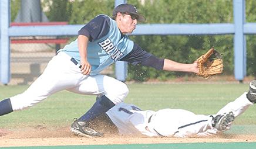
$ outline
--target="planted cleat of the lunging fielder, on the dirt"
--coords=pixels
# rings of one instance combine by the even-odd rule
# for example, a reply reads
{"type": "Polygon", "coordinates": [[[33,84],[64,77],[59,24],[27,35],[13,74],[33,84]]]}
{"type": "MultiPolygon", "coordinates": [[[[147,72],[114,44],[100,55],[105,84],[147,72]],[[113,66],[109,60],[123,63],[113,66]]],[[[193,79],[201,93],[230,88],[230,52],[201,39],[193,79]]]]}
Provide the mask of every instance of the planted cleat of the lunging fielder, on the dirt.
{"type": "Polygon", "coordinates": [[[89,127],[89,123],[85,120],[75,120],[71,127],[70,131],[76,136],[81,137],[102,137],[103,133],[99,133],[89,127]]]}

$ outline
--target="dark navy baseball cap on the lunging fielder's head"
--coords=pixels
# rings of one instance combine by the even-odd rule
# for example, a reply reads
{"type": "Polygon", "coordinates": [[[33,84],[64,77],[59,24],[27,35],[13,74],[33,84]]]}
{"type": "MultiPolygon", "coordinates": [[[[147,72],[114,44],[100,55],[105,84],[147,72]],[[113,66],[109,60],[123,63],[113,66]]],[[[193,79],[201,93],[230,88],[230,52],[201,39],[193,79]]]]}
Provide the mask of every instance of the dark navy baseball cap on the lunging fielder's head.
{"type": "Polygon", "coordinates": [[[140,13],[138,13],[136,7],[130,4],[121,4],[116,6],[116,8],[114,8],[113,10],[113,16],[116,16],[117,12],[136,15],[136,19],[139,22],[144,22],[146,20],[143,15],[140,15],[140,13]]]}

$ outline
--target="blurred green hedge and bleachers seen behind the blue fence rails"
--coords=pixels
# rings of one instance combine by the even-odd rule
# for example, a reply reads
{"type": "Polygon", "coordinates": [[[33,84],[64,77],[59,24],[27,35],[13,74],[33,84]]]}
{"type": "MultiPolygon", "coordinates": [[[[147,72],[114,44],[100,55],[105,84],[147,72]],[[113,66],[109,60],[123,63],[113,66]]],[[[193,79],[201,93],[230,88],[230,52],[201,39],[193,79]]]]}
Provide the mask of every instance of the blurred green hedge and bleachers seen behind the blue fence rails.
{"type": "MultiPolygon", "coordinates": [[[[233,0],[129,0],[146,16],[144,23],[234,23],[233,0]]],[[[245,22],[256,22],[256,1],[246,0],[245,22]]],[[[11,26],[84,25],[96,15],[112,16],[114,0],[11,0],[11,26]],[[25,4],[24,4],[25,2],[25,4]],[[27,4],[26,4],[27,3],[27,4]],[[28,11],[35,9],[33,11],[28,11]],[[33,13],[31,13],[33,12],[33,13]],[[39,13],[39,14],[38,14],[39,13]],[[37,17],[35,17],[37,16],[37,17]]],[[[31,84],[45,69],[56,50],[76,36],[11,37],[11,82],[31,84]]],[[[209,48],[215,47],[223,54],[224,74],[220,77],[234,79],[234,35],[147,35],[130,39],[144,50],[161,58],[180,63],[193,63],[209,48]]],[[[246,36],[247,77],[256,76],[256,35],[246,36]]],[[[114,77],[114,65],[102,74],[114,77]]],[[[189,81],[194,74],[156,71],[140,65],[128,66],[126,81],[170,81],[183,78],[189,81]]],[[[196,77],[196,79],[198,79],[196,77]]]]}

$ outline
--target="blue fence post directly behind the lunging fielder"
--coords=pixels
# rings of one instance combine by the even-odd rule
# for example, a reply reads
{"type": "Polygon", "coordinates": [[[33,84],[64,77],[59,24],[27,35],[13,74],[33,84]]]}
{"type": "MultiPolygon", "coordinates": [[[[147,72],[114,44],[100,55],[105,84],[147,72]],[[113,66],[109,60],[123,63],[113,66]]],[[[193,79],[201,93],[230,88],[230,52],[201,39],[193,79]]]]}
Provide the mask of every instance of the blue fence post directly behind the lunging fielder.
{"type": "MultiPolygon", "coordinates": [[[[125,3],[126,3],[125,0],[115,0],[114,7],[120,4],[125,4],[125,3]]],[[[115,67],[116,67],[116,79],[124,82],[127,77],[127,63],[124,61],[117,61],[115,67]]]]}

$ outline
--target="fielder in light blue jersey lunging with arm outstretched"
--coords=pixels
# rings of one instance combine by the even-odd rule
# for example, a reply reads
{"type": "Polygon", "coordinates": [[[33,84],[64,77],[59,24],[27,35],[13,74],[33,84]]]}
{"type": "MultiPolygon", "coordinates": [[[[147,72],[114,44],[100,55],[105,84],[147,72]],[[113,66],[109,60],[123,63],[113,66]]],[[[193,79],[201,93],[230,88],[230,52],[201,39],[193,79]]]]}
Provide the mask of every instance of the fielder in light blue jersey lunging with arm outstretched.
{"type": "Polygon", "coordinates": [[[127,61],[157,70],[198,73],[197,63],[183,64],[157,58],[130,40],[126,34],[132,33],[137,22],[144,20],[144,16],[129,4],[117,6],[113,18],[98,15],[90,20],[79,30],[75,41],[58,50],[43,74],[25,92],[0,102],[0,116],[31,107],[62,90],[101,95],[85,115],[73,122],[70,130],[80,136],[102,136],[90,128],[89,121],[123,102],[129,92],[123,82],[100,75],[109,65],[127,61]]]}

